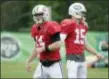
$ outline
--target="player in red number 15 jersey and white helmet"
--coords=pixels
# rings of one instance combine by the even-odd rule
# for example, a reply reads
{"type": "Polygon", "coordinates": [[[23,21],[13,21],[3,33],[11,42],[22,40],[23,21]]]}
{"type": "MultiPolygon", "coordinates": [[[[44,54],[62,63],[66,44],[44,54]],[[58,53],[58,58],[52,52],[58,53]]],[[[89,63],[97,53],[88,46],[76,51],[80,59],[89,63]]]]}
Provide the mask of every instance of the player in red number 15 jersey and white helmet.
{"type": "Polygon", "coordinates": [[[82,3],[73,3],[68,11],[71,18],[61,22],[61,40],[65,41],[68,78],[87,78],[84,50],[96,55],[99,59],[103,58],[88,44],[85,13],[86,8],[82,3]]]}

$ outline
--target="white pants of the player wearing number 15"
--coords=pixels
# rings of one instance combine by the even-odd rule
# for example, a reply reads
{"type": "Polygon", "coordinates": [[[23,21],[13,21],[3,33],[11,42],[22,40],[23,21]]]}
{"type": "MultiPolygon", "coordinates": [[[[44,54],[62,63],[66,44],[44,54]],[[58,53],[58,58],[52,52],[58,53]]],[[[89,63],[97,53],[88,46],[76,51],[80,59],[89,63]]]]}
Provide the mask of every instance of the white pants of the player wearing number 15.
{"type": "Polygon", "coordinates": [[[87,78],[87,65],[86,62],[75,62],[67,60],[68,78],[87,78]]]}

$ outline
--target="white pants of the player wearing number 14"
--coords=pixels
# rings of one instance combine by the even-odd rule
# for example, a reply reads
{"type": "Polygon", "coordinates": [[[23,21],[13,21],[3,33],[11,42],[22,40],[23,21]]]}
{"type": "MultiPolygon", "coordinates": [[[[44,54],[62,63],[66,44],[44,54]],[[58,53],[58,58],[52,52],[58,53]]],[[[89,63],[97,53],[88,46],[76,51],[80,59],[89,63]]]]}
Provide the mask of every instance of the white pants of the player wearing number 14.
{"type": "Polygon", "coordinates": [[[49,67],[39,63],[33,75],[33,79],[36,78],[63,78],[61,62],[56,62],[49,67]]]}

